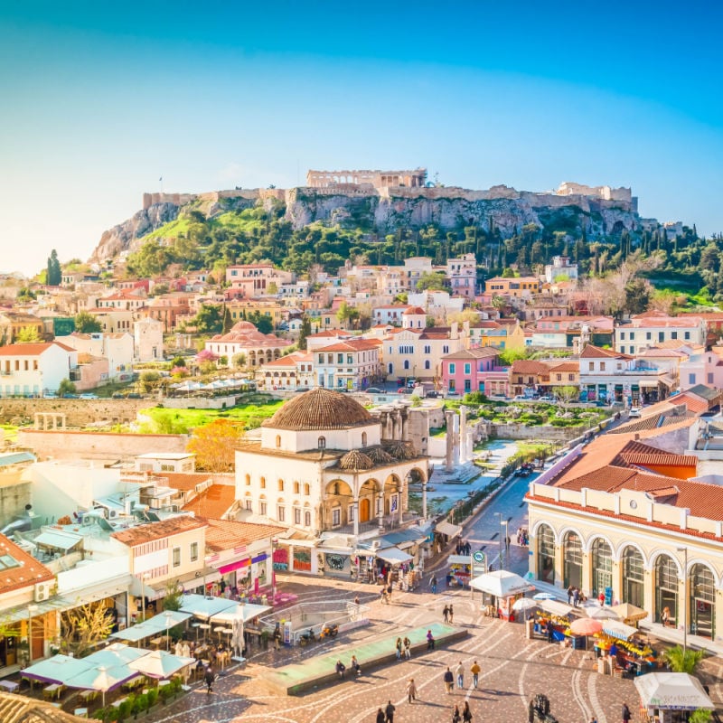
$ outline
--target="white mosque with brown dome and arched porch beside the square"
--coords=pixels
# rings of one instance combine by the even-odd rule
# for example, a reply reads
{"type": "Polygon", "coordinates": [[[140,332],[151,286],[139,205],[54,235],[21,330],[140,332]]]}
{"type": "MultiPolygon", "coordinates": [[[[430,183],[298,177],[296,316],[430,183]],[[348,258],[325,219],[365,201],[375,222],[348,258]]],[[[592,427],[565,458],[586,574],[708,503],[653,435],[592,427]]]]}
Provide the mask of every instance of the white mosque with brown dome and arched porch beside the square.
{"type": "Polygon", "coordinates": [[[360,541],[403,525],[408,484],[427,480],[407,437],[407,408],[382,423],[347,394],[305,392],[236,452],[236,498],[258,521],[298,532],[279,540],[290,569],[348,579],[357,559],[375,559],[360,541]]]}

